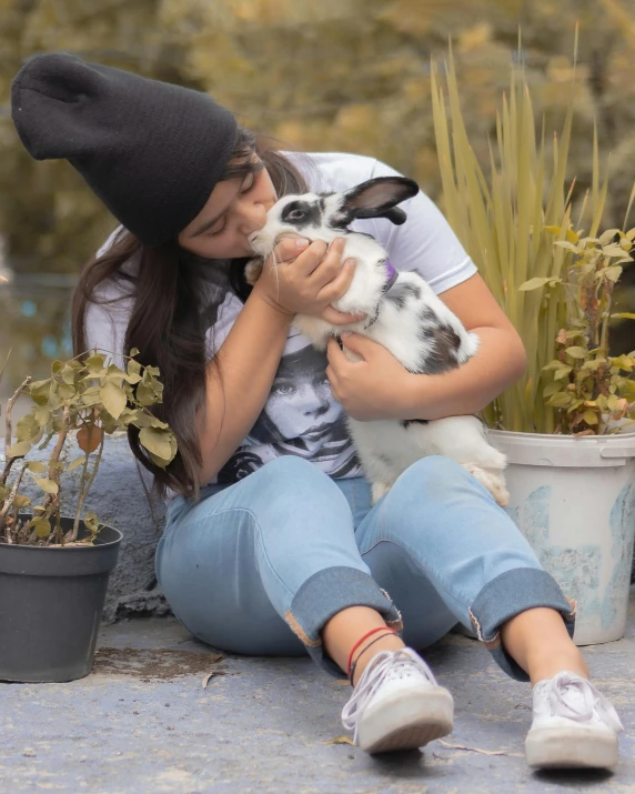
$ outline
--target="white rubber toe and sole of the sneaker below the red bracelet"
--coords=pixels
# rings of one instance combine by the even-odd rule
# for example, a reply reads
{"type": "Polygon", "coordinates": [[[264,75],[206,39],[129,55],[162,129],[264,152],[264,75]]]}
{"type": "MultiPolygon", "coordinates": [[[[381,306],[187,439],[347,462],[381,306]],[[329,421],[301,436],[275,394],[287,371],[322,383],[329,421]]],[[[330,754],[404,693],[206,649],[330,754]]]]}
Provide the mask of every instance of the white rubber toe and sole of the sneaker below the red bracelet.
{"type": "Polygon", "coordinates": [[[423,747],[452,733],[454,702],[442,686],[404,691],[367,710],[357,726],[366,753],[423,747]]]}

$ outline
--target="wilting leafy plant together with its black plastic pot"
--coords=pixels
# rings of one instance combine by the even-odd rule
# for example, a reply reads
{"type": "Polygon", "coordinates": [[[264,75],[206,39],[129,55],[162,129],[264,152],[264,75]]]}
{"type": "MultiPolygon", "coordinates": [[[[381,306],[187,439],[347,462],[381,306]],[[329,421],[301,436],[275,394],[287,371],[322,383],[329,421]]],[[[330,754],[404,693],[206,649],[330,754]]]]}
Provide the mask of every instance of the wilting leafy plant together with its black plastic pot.
{"type": "Polygon", "coordinates": [[[150,411],[162,399],[159,370],[142,366],[137,353],[131,351],[125,371],[97,351],[54,361],[49,379],[27,378],[7,403],[0,466],[2,681],[73,681],[91,671],[122,537],[85,511],[104,439],[133,425],[158,465],[177,453],[174,434],[150,411]],[[12,443],[11,410],[22,393],[33,405],[17,422],[12,443]],[[46,462],[33,460],[36,448],[46,450],[46,462]],[[77,507],[65,515],[63,486],[78,476],[77,507]],[[21,493],[28,479],[41,500],[21,493]]]}

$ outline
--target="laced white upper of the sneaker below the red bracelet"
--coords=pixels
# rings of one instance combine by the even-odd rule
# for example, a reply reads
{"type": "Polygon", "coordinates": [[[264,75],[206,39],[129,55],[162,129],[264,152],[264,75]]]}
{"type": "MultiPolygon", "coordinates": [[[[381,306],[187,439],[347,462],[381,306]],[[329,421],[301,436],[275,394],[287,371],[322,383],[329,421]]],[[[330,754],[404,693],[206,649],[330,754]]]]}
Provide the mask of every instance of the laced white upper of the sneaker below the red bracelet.
{"type": "Polygon", "coordinates": [[[354,731],[353,742],[357,741],[357,721],[360,714],[377,693],[380,686],[393,679],[410,676],[413,669],[423,674],[431,684],[436,680],[427,664],[410,647],[399,651],[380,651],[369,662],[357,681],[350,701],[342,710],[342,724],[347,731],[354,731]]]}

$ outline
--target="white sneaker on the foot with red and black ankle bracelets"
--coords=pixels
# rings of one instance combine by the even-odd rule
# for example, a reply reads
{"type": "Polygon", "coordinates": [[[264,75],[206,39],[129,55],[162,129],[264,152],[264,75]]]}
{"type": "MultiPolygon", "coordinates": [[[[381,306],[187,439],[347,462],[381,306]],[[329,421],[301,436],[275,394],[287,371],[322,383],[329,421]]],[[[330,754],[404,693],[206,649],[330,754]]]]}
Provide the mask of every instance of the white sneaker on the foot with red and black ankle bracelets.
{"type": "Polygon", "coordinates": [[[412,649],[380,651],[342,710],[342,724],[367,753],[423,747],[452,732],[454,702],[412,649]]]}

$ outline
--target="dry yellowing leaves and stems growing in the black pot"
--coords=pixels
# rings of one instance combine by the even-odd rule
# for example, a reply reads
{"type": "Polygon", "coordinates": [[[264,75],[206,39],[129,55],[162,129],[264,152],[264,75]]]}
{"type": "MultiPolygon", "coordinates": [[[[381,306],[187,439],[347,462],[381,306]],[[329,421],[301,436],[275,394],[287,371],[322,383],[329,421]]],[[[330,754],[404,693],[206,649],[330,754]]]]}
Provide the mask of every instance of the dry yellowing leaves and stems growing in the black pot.
{"type": "MultiPolygon", "coordinates": [[[[152,414],[150,408],[162,401],[163,385],[155,366],[142,366],[134,360],[138,350],[127,356],[125,370],[108,356],[83,353],[70,361],[54,361],[51,376],[43,381],[27,378],[7,403],[6,462],[0,473],[0,542],[22,545],[50,545],[78,542],[80,521],[90,489],[103,458],[104,438],[139,428],[139,441],[152,461],[167,466],[177,454],[177,439],[170,428],[152,414]],[[33,403],[16,425],[12,443],[11,411],[21,394],[33,403]],[[69,460],[69,441],[77,439],[82,454],[69,460]],[[33,448],[43,450],[53,441],[48,463],[29,461],[33,448]],[[64,475],[81,469],[79,496],[72,530],[61,525],[64,475]],[[41,504],[20,493],[24,476],[42,491],[41,504]]],[[[1,372],[0,372],[1,375],[1,372]]],[[[83,515],[85,536],[92,544],[100,527],[98,516],[83,515]]]]}

